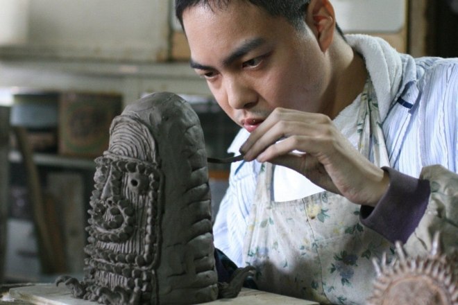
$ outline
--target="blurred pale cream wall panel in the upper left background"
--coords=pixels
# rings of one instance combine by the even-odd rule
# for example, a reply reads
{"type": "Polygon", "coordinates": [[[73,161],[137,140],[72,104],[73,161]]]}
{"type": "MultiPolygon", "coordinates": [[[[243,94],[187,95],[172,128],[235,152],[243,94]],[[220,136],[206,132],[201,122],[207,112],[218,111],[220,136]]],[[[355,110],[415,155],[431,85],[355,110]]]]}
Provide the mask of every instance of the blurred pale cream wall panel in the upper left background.
{"type": "Polygon", "coordinates": [[[0,18],[3,56],[124,62],[169,58],[168,1],[0,0],[0,6],[8,8],[0,18]]]}

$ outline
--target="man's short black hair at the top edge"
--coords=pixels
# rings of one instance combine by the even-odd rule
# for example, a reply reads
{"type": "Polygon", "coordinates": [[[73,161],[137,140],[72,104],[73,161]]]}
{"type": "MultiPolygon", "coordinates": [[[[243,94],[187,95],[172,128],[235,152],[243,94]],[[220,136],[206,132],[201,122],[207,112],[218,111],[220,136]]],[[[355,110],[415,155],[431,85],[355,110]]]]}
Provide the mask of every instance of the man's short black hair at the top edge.
{"type": "MultiPolygon", "coordinates": [[[[300,29],[303,25],[305,10],[310,0],[244,0],[254,6],[258,6],[273,17],[284,17],[295,28],[300,29]]],[[[230,0],[175,0],[175,15],[183,26],[183,12],[192,6],[202,5],[211,8],[213,4],[217,8],[225,8],[230,0]]],[[[343,37],[343,32],[336,24],[337,32],[343,37]]],[[[345,37],[343,37],[345,40],[345,37]]]]}

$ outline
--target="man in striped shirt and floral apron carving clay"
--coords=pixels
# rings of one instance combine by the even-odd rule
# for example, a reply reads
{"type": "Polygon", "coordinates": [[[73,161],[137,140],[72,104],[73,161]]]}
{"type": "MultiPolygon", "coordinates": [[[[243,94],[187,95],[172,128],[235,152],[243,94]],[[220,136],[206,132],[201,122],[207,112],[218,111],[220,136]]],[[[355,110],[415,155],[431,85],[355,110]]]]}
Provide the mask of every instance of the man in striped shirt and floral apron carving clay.
{"type": "Polygon", "coordinates": [[[244,128],[214,243],[260,289],[364,304],[395,241],[421,254],[439,230],[457,247],[457,60],[344,37],[328,0],[176,0],[176,15],[244,128]]]}

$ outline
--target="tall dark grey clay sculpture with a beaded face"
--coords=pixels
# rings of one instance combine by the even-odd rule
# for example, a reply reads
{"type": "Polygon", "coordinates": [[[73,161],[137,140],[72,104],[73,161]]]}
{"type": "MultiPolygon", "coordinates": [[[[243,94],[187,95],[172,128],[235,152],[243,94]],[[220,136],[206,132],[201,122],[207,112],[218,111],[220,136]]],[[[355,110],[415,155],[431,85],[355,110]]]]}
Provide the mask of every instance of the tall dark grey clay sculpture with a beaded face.
{"type": "Polygon", "coordinates": [[[128,105],[96,159],[85,277],[56,284],[103,304],[217,299],[206,158],[198,116],[182,98],[162,92],[128,105]]]}

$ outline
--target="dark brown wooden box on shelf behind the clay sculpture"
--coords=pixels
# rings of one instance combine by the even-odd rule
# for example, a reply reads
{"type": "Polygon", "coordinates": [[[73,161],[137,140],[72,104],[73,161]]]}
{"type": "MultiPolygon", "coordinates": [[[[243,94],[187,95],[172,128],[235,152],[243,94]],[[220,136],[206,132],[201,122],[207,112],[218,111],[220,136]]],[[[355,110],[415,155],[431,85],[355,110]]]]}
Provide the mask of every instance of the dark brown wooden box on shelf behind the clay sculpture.
{"type": "Polygon", "coordinates": [[[63,93],[59,103],[60,155],[98,157],[108,148],[110,124],[121,114],[120,94],[63,93]]]}

